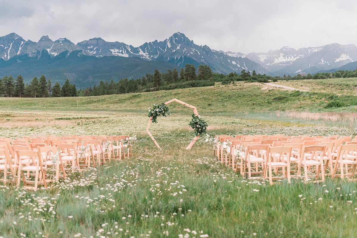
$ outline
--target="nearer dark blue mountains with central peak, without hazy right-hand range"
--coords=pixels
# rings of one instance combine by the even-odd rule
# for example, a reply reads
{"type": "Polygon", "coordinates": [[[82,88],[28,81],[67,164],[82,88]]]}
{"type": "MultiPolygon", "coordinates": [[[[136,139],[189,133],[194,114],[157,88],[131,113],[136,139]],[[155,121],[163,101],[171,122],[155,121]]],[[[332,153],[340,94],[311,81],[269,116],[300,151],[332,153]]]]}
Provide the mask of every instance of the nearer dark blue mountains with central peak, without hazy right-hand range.
{"type": "Polygon", "coordinates": [[[166,69],[185,67],[187,63],[196,67],[207,64],[219,73],[240,72],[243,69],[267,73],[260,64],[248,58],[232,57],[211,50],[206,45],[196,45],[180,32],[164,41],[146,42],[139,47],[117,41],[107,42],[100,37],[77,44],[67,38],[52,41],[48,36],[34,42],[24,40],[16,33],[0,37],[0,75],[22,74],[25,79],[45,74],[59,82],[69,78],[71,82],[84,81],[87,85],[99,78],[119,80],[122,77],[141,77],[154,72],[155,68],[165,72],[166,69]],[[106,57],[109,58],[102,60],[106,57]],[[102,61],[111,66],[110,71],[99,67],[97,63],[102,61]],[[124,66],[129,62],[130,69],[124,66]]]}

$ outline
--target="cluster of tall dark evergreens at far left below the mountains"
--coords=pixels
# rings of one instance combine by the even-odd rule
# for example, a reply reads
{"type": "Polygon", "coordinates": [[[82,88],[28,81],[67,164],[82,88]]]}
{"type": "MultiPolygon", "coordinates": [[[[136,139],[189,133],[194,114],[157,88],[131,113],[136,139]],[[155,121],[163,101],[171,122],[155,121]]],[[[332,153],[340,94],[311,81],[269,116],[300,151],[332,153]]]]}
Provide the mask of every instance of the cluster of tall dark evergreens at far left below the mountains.
{"type": "Polygon", "coordinates": [[[58,82],[52,87],[51,79],[46,79],[41,75],[40,79],[34,77],[30,84],[24,83],[24,78],[19,75],[14,77],[4,76],[0,79],[0,96],[2,97],[27,97],[27,98],[46,98],[46,97],[75,97],[77,89],[75,84],[71,84],[67,79],[63,86],[58,82]]]}

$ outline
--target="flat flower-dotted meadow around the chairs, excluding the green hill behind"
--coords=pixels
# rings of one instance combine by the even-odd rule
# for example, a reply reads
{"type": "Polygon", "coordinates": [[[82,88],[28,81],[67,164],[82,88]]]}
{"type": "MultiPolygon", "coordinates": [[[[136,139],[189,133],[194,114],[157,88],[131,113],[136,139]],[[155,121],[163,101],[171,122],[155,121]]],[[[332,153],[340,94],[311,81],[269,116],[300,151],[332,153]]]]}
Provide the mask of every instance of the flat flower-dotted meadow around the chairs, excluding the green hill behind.
{"type": "MultiPolygon", "coordinates": [[[[357,185],[292,180],[270,186],[246,180],[215,161],[193,137],[189,115],[158,118],[144,133],[142,113],[1,112],[0,136],[136,133],[134,157],[37,192],[0,187],[0,236],[13,237],[355,237],[357,185]],[[328,191],[328,192],[327,192],[328,191]],[[180,236],[182,235],[182,236],[180,236]]],[[[207,116],[208,133],[354,135],[326,126],[207,116]]]]}

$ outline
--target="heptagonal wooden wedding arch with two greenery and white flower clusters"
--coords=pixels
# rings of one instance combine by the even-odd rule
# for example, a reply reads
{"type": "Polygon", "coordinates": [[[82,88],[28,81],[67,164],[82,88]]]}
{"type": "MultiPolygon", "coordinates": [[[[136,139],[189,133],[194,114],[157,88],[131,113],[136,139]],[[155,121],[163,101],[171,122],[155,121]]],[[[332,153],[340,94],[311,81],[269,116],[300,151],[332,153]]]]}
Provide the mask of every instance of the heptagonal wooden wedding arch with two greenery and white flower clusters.
{"type": "Polygon", "coordinates": [[[192,120],[190,122],[190,126],[195,129],[195,137],[192,139],[191,143],[186,147],[186,150],[189,150],[192,148],[193,144],[195,144],[196,140],[198,139],[198,137],[204,133],[206,133],[206,129],[207,129],[207,123],[205,120],[201,119],[201,117],[198,115],[197,112],[197,108],[182,102],[181,100],[178,100],[176,98],[171,99],[170,101],[167,101],[166,103],[162,103],[160,105],[154,104],[153,108],[149,108],[149,114],[148,117],[150,117],[149,119],[149,124],[147,124],[147,128],[146,128],[146,132],[147,134],[149,134],[149,136],[151,137],[151,139],[154,141],[155,145],[157,146],[157,148],[160,149],[160,145],[157,143],[157,141],[155,140],[154,136],[152,136],[152,134],[149,131],[151,122],[154,121],[155,123],[157,123],[157,117],[160,116],[164,116],[166,117],[167,115],[170,114],[169,111],[169,107],[167,107],[167,104],[172,103],[172,102],[177,102],[180,103],[186,107],[189,107],[193,110],[193,114],[192,114],[192,120]]]}

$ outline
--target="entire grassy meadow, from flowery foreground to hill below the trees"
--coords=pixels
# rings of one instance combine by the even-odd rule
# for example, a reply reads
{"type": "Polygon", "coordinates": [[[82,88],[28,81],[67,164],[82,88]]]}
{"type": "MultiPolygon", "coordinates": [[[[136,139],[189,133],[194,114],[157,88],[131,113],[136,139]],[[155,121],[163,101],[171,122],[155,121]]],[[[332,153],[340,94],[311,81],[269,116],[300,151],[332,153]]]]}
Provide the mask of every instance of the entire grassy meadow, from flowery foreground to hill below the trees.
{"type": "MultiPolygon", "coordinates": [[[[73,173],[47,190],[2,185],[0,236],[356,237],[356,182],[292,179],[270,186],[245,179],[218,163],[203,138],[185,150],[193,137],[192,110],[174,103],[171,115],[150,128],[162,150],[145,133],[147,108],[178,98],[197,107],[210,135],[356,135],[354,122],[328,120],[331,113],[356,112],[353,103],[325,108],[334,95],[239,82],[98,97],[1,98],[0,136],[136,134],[138,139],[129,160],[73,173]],[[286,114],[297,112],[322,116],[286,114]]],[[[352,93],[345,97],[355,100],[352,93]]]]}

